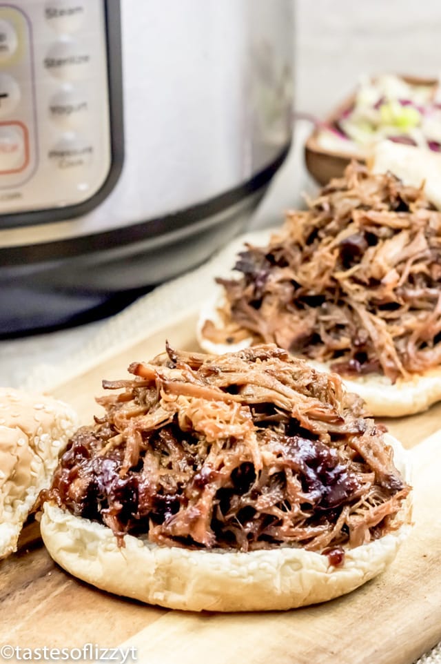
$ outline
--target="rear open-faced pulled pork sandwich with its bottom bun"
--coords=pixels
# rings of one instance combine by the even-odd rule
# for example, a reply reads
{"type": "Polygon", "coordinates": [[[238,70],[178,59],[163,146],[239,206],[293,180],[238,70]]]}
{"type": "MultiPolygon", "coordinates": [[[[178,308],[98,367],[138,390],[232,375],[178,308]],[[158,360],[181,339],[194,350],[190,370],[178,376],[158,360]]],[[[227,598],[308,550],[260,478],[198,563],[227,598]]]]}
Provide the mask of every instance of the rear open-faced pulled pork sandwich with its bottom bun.
{"type": "Polygon", "coordinates": [[[353,162],[234,269],[201,312],[203,349],[274,342],[338,372],[373,415],[441,399],[441,213],[422,186],[353,162]]]}

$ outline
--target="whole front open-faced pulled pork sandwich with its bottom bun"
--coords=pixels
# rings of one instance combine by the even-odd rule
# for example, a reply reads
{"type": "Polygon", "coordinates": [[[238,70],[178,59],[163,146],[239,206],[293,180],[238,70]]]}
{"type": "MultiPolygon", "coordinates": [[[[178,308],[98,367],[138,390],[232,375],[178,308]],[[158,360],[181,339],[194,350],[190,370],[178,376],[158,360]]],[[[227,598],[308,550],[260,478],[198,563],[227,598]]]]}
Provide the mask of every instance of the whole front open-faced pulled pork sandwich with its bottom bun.
{"type": "Polygon", "coordinates": [[[338,375],[274,345],[167,346],[129,371],[103,382],[118,392],[41,494],[43,540],[68,572],[165,607],[252,611],[329,600],[393,560],[404,450],[338,375]]]}

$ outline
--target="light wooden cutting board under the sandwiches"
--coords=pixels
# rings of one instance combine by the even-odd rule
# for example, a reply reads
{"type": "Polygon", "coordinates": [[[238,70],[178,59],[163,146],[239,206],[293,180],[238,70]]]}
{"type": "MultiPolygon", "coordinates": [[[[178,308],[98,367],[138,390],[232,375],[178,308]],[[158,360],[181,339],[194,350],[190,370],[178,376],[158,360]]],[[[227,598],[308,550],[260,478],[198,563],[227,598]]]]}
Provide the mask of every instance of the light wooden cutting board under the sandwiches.
{"type": "MultiPolygon", "coordinates": [[[[101,379],[123,378],[134,360],[172,345],[196,349],[194,313],[61,384],[83,422],[99,413],[101,379]]],[[[441,404],[389,420],[412,448],[415,526],[396,561],[357,591],[315,607],[258,614],[186,614],[100,592],[52,563],[27,527],[21,548],[0,563],[0,645],[135,647],[148,664],[278,663],[410,664],[441,641],[441,404]]]]}

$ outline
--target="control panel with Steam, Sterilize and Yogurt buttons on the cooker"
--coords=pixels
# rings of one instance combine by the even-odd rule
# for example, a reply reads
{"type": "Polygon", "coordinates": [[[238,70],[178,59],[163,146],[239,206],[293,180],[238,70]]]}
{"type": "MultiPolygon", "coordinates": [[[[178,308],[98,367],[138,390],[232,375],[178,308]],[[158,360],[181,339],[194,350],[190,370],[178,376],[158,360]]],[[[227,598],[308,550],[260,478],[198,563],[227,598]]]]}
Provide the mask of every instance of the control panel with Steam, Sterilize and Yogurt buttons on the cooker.
{"type": "Polygon", "coordinates": [[[0,2],[0,227],[92,198],[110,146],[105,1],[0,2]]]}

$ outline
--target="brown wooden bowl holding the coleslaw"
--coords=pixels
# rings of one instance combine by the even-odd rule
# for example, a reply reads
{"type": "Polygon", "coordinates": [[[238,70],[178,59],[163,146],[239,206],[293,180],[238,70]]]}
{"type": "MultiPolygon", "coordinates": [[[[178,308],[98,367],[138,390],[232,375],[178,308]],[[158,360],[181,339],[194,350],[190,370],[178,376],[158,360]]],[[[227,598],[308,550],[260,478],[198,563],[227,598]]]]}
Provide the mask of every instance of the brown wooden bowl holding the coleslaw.
{"type": "MultiPolygon", "coordinates": [[[[414,86],[435,86],[438,84],[438,79],[422,78],[416,76],[400,76],[406,83],[414,86]]],[[[345,111],[352,108],[356,99],[356,92],[347,97],[339,106],[325,119],[325,123],[334,126],[336,121],[342,116],[345,111]]],[[[358,159],[359,162],[364,162],[364,159],[359,154],[338,152],[337,150],[326,150],[318,143],[318,133],[320,128],[314,129],[309,135],[305,143],[305,163],[309,173],[318,182],[318,184],[327,184],[333,177],[341,177],[347,164],[351,159],[358,159]]]]}

